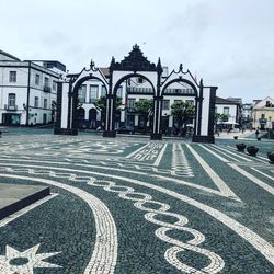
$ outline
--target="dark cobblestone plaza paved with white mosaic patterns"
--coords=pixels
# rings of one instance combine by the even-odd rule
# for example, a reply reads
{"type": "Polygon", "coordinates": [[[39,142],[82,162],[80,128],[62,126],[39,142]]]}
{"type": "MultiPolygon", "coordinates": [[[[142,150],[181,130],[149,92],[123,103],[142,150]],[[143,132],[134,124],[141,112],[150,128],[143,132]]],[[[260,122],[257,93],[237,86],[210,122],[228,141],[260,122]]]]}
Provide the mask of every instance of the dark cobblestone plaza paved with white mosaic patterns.
{"type": "Polygon", "coordinates": [[[22,129],[0,144],[0,183],[52,193],[0,220],[1,274],[274,273],[273,141],[22,129]]]}

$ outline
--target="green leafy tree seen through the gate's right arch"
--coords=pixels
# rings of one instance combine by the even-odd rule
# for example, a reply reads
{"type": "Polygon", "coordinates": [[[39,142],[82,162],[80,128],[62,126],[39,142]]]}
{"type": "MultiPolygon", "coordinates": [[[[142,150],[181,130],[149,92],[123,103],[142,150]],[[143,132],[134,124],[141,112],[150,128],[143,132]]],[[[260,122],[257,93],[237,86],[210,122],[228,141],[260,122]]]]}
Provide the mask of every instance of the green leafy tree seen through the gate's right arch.
{"type": "Polygon", "coordinates": [[[185,127],[187,121],[194,117],[195,106],[184,101],[176,101],[171,105],[171,114],[176,117],[179,128],[185,127]]]}

